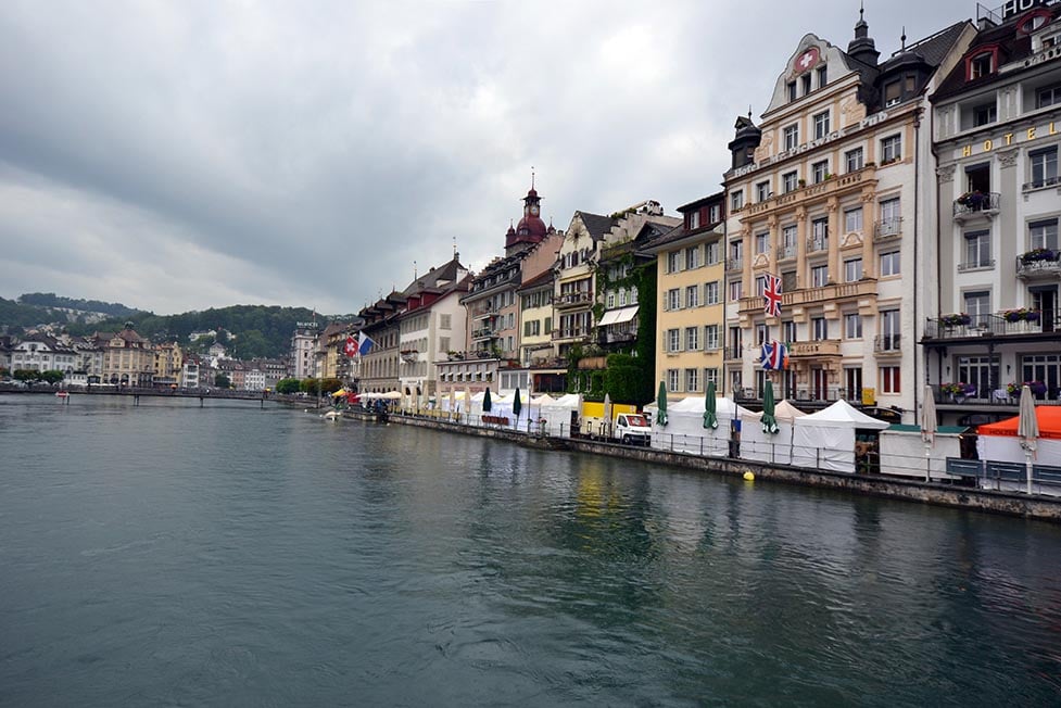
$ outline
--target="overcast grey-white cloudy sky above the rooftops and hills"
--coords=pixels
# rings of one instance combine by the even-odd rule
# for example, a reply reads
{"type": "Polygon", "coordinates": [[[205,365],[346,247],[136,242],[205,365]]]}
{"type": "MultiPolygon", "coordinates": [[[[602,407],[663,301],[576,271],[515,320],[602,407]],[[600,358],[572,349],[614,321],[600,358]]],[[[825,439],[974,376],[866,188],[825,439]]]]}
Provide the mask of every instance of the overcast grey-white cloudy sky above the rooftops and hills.
{"type": "MultiPolygon", "coordinates": [[[[866,0],[877,49],[975,15],[866,0]]],[[[858,2],[7,0],[0,296],[356,312],[566,228],[719,189],[736,115],[858,2]]],[[[758,118],[757,118],[758,119],[758,118]]]]}

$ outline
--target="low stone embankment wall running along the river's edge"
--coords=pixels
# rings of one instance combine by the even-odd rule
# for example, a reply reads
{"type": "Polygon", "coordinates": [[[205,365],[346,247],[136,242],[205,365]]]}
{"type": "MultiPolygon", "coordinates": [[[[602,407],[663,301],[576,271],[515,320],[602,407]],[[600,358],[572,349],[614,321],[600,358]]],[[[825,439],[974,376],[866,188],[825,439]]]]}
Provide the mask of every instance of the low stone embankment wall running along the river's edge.
{"type": "MultiPolygon", "coordinates": [[[[374,415],[356,410],[348,410],[344,416],[364,421],[375,420],[374,415]]],[[[505,428],[480,428],[435,418],[406,416],[402,414],[391,415],[389,421],[404,426],[431,428],[456,434],[494,438],[518,445],[543,450],[567,450],[594,455],[607,455],[609,457],[637,459],[649,464],[666,465],[685,470],[695,469],[728,477],[743,478],[746,472],[750,471],[755,475],[756,481],[761,482],[838,490],[852,494],[986,511],[989,514],[1003,514],[1007,516],[1061,523],[1061,498],[1058,497],[1030,496],[1019,492],[924,482],[909,478],[891,477],[887,473],[849,475],[783,465],[766,465],[745,459],[704,457],[687,453],[668,452],[652,447],[632,447],[585,439],[533,435],[505,428]]]]}

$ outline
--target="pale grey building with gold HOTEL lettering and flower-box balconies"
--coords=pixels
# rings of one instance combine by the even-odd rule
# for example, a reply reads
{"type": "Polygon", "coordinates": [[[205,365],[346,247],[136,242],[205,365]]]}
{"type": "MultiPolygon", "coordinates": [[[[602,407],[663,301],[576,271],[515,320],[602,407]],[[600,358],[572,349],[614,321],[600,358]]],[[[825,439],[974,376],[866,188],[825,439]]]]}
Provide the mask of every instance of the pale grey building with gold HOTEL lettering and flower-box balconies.
{"type": "Polygon", "coordinates": [[[922,344],[947,422],[1015,415],[1061,387],[1061,4],[980,9],[933,94],[938,257],[922,344]]]}

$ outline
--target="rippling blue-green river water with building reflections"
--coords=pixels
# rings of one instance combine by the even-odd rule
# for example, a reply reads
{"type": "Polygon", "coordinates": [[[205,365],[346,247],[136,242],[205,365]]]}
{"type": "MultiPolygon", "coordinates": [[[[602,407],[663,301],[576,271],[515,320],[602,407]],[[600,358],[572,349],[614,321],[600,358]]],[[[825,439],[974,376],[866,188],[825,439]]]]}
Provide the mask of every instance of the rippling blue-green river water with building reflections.
{"type": "Polygon", "coordinates": [[[0,704],[1061,695],[1056,527],[253,405],[43,399],[0,396],[0,704]]]}

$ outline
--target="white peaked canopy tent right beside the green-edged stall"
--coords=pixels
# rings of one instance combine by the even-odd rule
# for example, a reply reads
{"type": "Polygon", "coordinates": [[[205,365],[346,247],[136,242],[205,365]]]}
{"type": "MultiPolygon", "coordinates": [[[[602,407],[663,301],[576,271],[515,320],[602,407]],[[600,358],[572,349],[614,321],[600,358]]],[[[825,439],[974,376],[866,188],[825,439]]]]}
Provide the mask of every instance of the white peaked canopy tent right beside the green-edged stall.
{"type": "Polygon", "coordinates": [[[888,423],[856,410],[846,401],[837,401],[793,421],[792,464],[854,473],[855,431],[887,427],[888,423]]]}

